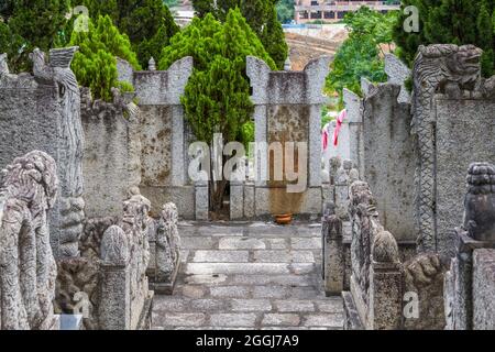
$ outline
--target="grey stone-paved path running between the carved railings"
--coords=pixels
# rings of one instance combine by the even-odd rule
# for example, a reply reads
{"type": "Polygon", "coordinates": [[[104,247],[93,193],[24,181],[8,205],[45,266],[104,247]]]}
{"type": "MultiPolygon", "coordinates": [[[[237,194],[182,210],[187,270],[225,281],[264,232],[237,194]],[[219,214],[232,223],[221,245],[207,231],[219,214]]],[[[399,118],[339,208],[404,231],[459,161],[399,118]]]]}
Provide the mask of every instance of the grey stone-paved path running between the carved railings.
{"type": "Polygon", "coordinates": [[[155,296],[154,329],[341,329],[342,300],[321,280],[321,227],[183,222],[173,296],[155,296]]]}

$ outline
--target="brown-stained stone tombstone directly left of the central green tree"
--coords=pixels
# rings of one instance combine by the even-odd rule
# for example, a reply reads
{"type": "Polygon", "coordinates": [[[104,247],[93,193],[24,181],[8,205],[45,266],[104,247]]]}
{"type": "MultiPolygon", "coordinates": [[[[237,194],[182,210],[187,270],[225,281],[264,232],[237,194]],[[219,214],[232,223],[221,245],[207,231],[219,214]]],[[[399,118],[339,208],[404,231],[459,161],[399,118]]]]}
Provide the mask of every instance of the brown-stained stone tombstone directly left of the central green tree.
{"type": "Polygon", "coordinates": [[[193,58],[184,57],[168,70],[134,72],[141,109],[141,185],[158,215],[167,201],[186,219],[195,219],[195,187],[189,180],[190,135],[180,97],[193,74],[193,58]]]}

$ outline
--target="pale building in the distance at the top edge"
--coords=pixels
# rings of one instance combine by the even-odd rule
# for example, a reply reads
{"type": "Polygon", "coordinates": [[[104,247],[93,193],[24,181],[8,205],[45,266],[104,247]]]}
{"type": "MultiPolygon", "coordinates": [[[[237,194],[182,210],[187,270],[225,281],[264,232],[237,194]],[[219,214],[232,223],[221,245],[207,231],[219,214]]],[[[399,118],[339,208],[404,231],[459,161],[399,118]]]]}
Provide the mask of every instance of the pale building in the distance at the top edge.
{"type": "Polygon", "coordinates": [[[296,0],[295,3],[296,23],[338,22],[341,21],[348,12],[358,11],[363,6],[384,13],[400,9],[400,1],[384,0],[296,0]]]}

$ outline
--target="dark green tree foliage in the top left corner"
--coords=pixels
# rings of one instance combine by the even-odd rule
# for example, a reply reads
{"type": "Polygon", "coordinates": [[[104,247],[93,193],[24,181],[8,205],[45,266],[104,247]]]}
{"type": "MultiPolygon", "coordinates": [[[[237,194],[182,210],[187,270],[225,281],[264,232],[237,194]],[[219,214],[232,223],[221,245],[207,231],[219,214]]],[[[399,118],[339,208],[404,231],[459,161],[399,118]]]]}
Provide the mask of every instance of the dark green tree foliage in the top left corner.
{"type": "MultiPolygon", "coordinates": [[[[31,63],[29,53],[35,47],[48,51],[57,42],[67,23],[67,0],[15,0],[2,1],[0,16],[2,34],[12,37],[7,45],[0,43],[0,52],[9,53],[9,65],[13,72],[26,70],[31,63]]],[[[1,41],[1,40],[0,40],[1,41]]]]}

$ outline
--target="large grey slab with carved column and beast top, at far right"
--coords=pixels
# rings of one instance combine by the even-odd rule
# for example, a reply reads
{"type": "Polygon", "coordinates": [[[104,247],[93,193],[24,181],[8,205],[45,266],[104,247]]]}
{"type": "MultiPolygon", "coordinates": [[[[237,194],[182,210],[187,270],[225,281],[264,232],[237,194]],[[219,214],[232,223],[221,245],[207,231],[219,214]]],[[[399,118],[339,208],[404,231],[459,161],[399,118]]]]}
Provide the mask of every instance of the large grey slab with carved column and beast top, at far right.
{"type": "Polygon", "coordinates": [[[420,252],[454,255],[463,178],[476,161],[495,162],[495,78],[482,79],[473,45],[420,46],[415,59],[413,133],[418,152],[416,228],[420,252]]]}

